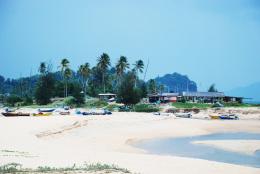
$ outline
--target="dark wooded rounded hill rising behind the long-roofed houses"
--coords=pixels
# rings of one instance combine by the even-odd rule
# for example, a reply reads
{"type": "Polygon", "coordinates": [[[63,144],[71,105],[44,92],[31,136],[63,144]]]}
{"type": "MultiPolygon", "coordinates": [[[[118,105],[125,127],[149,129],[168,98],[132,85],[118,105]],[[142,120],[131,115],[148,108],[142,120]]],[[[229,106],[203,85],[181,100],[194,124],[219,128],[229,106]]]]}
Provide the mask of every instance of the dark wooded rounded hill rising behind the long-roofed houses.
{"type": "Polygon", "coordinates": [[[157,84],[166,86],[165,92],[197,91],[197,84],[194,81],[190,80],[188,76],[176,72],[173,74],[166,74],[163,77],[157,77],[155,78],[155,81],[157,84]]]}

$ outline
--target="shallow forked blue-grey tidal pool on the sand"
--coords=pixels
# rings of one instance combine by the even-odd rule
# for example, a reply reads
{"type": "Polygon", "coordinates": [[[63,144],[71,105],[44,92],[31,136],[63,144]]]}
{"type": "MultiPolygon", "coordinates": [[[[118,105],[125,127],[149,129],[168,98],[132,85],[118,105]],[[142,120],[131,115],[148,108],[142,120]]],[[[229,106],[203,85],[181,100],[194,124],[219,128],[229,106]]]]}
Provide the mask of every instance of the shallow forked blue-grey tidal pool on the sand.
{"type": "Polygon", "coordinates": [[[203,140],[260,140],[260,134],[245,132],[218,133],[182,138],[144,140],[136,144],[135,147],[152,154],[199,158],[260,168],[260,151],[255,152],[254,155],[246,155],[192,143],[193,141],[203,140]]]}

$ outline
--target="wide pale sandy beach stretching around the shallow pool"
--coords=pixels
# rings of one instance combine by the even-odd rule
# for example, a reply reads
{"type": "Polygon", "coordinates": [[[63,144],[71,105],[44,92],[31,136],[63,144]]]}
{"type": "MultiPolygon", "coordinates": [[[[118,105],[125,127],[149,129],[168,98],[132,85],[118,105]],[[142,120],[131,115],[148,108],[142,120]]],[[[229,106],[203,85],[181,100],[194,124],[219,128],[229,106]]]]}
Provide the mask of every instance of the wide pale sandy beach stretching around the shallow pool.
{"type": "MultiPolygon", "coordinates": [[[[257,108],[255,110],[258,110],[257,108]]],[[[28,111],[28,109],[27,109],[28,111]]],[[[29,110],[30,111],[30,110],[29,110]]],[[[242,111],[241,111],[242,112],[242,111]]],[[[246,112],[246,110],[243,110],[246,112]]],[[[132,146],[145,139],[205,135],[220,132],[260,133],[260,115],[245,113],[240,120],[208,120],[155,116],[151,113],[113,113],[111,116],[0,116],[0,164],[24,167],[64,167],[73,164],[116,164],[141,174],[258,174],[259,168],[169,155],[149,154],[132,146]],[[247,116],[248,117],[247,117],[247,116]]],[[[234,146],[242,153],[259,150],[259,141],[200,142],[219,148],[234,146]],[[240,145],[237,145],[240,144],[240,145]]]]}

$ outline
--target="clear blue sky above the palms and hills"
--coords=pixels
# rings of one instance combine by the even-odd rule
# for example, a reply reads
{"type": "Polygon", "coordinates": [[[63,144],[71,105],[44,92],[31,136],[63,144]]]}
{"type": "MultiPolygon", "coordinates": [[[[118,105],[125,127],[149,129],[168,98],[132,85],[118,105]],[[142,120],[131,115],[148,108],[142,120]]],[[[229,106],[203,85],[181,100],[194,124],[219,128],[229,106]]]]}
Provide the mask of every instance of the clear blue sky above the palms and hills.
{"type": "Polygon", "coordinates": [[[0,0],[1,75],[29,76],[43,61],[56,70],[62,58],[94,66],[103,52],[112,64],[149,59],[146,79],[247,86],[260,81],[260,1],[0,0]]]}

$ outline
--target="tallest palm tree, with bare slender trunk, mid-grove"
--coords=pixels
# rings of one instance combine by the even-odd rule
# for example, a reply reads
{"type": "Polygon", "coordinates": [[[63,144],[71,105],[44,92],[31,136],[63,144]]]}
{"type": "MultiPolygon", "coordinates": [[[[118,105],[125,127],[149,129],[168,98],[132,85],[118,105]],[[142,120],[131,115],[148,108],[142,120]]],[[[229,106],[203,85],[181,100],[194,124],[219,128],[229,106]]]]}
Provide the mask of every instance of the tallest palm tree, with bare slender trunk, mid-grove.
{"type": "Polygon", "coordinates": [[[104,88],[104,93],[106,92],[106,85],[105,85],[105,73],[107,72],[108,67],[110,66],[110,58],[108,54],[103,53],[99,58],[98,58],[98,64],[97,67],[102,73],[102,85],[104,88]]]}

